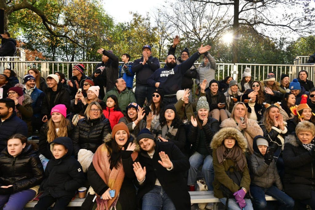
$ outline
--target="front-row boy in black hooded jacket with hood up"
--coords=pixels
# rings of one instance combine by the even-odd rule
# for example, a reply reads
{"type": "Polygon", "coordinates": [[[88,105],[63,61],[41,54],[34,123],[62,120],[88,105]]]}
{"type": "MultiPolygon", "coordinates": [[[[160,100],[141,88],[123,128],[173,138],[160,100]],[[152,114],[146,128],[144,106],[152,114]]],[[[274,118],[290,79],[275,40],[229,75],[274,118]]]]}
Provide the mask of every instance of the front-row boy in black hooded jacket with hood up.
{"type": "Polygon", "coordinates": [[[33,210],[47,209],[54,202],[54,208],[66,209],[76,190],[84,182],[82,166],[71,157],[72,140],[69,137],[59,137],[49,146],[54,158],[47,163],[46,178],[39,188],[43,191],[43,195],[40,196],[33,210]]]}

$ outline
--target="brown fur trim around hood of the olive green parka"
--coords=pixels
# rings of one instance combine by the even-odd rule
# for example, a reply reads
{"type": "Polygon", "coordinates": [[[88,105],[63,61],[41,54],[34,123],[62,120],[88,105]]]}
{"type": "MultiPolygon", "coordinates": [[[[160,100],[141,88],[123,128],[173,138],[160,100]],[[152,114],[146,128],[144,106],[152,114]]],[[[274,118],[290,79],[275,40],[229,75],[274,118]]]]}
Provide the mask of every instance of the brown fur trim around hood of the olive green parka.
{"type": "Polygon", "coordinates": [[[219,146],[222,145],[224,139],[227,137],[233,137],[236,139],[238,146],[243,150],[243,152],[247,151],[247,141],[243,134],[236,128],[227,127],[221,128],[214,136],[211,141],[211,148],[217,149],[219,146]]]}

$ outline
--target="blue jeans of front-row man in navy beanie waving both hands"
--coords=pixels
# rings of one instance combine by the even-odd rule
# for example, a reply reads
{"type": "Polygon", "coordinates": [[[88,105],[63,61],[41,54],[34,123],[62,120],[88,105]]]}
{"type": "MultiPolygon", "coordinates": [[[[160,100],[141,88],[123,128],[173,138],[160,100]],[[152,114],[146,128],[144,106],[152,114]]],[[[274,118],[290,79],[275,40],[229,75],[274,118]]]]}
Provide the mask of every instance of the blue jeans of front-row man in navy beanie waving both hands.
{"type": "Polygon", "coordinates": [[[142,198],[142,209],[145,210],[176,210],[173,201],[161,186],[155,185],[142,198]]]}

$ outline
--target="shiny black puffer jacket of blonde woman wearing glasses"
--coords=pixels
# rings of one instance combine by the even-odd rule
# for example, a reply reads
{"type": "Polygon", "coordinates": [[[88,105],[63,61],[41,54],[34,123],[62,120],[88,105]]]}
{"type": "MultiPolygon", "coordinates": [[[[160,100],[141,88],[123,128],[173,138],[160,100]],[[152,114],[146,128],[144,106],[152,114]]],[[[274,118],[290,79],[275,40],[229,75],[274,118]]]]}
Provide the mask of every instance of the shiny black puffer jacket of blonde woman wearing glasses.
{"type": "Polygon", "coordinates": [[[80,119],[72,133],[75,156],[77,157],[80,149],[91,150],[95,153],[96,149],[103,143],[107,133],[111,132],[109,120],[103,114],[100,118],[93,120],[88,120],[87,116],[80,119]]]}

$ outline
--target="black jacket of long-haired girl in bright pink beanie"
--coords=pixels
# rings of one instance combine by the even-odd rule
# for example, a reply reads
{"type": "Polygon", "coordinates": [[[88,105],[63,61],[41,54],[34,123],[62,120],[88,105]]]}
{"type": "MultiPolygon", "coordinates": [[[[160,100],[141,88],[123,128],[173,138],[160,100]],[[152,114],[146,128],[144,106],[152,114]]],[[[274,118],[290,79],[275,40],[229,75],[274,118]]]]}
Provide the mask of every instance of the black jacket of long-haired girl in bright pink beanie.
{"type": "MultiPolygon", "coordinates": [[[[48,124],[46,122],[40,128],[38,146],[39,146],[39,152],[50,160],[53,156],[51,155],[50,149],[48,147],[49,143],[47,142],[47,132],[48,132],[48,124]]],[[[71,137],[71,132],[72,132],[72,127],[69,123],[67,137],[71,137]]]]}

